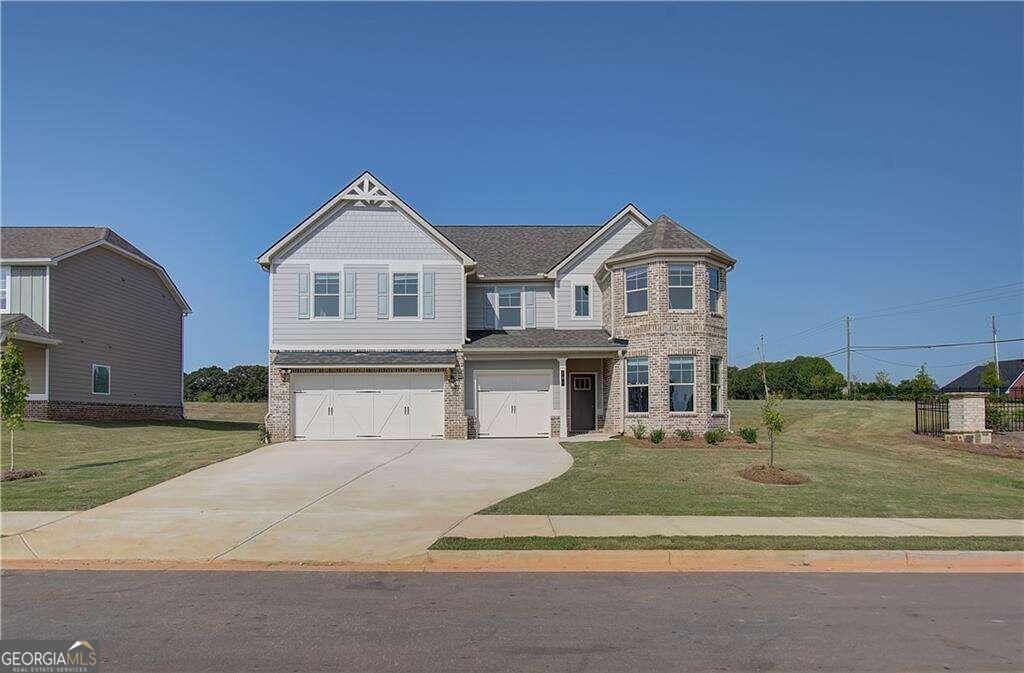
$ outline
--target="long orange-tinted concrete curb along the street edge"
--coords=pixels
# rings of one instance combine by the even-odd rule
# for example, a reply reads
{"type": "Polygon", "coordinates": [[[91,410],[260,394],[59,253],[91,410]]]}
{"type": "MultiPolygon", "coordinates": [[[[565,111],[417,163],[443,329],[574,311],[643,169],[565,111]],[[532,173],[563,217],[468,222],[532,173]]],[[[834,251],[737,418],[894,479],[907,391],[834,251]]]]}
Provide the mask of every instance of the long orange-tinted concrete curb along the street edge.
{"type": "Polygon", "coordinates": [[[10,559],[18,571],[345,573],[1024,573],[1018,551],[428,551],[394,561],[10,559]]]}

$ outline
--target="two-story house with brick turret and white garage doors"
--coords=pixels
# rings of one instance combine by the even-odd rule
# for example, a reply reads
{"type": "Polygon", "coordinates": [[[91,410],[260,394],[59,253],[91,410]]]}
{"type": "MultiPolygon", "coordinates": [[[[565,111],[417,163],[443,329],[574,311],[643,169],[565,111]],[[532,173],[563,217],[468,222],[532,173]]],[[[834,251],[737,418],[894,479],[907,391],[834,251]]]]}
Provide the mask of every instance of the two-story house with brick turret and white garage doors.
{"type": "Polygon", "coordinates": [[[729,422],[735,260],[633,205],[594,226],[434,226],[364,173],[258,262],[273,440],[729,422]]]}

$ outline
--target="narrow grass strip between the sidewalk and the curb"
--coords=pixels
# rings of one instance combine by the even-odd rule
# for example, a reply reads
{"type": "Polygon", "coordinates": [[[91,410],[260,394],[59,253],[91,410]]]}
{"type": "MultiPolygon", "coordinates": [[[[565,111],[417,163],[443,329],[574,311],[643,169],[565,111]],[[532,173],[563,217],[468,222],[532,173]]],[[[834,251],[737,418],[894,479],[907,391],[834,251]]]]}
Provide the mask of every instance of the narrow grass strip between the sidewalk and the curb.
{"type": "Polygon", "coordinates": [[[1024,551],[1024,537],[664,536],[578,538],[441,538],[431,549],[899,549],[1024,551]]]}

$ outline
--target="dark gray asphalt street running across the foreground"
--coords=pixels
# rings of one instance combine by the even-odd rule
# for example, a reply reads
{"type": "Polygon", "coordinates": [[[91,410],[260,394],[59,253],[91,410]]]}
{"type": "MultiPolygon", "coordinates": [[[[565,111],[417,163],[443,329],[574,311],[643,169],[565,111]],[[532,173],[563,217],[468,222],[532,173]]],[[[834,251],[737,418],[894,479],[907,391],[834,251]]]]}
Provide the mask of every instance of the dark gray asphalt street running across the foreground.
{"type": "Polygon", "coordinates": [[[4,572],[100,671],[1022,671],[1024,577],[4,572]]]}

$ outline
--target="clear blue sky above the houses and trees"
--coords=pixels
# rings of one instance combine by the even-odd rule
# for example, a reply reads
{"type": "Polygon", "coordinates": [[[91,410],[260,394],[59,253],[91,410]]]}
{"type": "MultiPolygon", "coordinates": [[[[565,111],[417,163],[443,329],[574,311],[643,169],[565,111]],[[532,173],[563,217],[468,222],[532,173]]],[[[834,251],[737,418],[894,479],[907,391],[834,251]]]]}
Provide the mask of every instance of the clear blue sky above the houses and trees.
{"type": "MultiPolygon", "coordinates": [[[[2,7],[5,224],[102,224],[266,360],[269,244],[364,169],[436,224],[627,202],[739,259],[733,364],[1024,336],[1020,4],[2,7]],[[937,305],[946,306],[935,310],[937,305]],[[927,309],[927,310],[922,310],[927,309]],[[887,314],[888,313],[888,314],[887,314]],[[788,338],[786,338],[788,337],[788,338]]],[[[940,382],[989,347],[855,356],[940,382]]],[[[1020,344],[1000,355],[1021,356],[1020,344]]],[[[841,359],[834,359],[841,366],[841,359]]]]}

